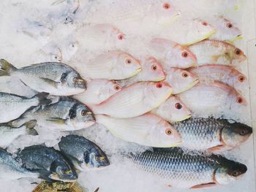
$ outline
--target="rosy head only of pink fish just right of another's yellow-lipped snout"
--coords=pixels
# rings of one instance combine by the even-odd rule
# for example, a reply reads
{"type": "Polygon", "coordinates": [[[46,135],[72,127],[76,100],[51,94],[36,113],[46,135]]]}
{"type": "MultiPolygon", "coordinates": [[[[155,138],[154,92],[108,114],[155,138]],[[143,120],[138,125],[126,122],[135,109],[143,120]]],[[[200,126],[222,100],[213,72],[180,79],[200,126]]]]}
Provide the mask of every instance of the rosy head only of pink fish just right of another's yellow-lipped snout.
{"type": "Polygon", "coordinates": [[[141,72],[138,74],[141,81],[161,81],[165,80],[165,72],[162,65],[156,58],[147,56],[141,61],[141,72]]]}

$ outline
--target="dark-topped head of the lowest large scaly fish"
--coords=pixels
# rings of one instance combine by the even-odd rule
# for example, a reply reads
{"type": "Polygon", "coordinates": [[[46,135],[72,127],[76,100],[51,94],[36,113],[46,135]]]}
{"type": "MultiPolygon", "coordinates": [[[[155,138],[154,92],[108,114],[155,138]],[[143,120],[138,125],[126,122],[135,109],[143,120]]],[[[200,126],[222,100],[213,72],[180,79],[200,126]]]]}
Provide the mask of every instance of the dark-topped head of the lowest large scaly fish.
{"type": "Polygon", "coordinates": [[[241,178],[247,171],[244,164],[235,161],[227,161],[222,163],[216,170],[214,180],[219,185],[227,185],[234,180],[241,178]]]}

